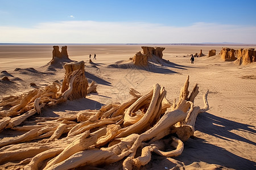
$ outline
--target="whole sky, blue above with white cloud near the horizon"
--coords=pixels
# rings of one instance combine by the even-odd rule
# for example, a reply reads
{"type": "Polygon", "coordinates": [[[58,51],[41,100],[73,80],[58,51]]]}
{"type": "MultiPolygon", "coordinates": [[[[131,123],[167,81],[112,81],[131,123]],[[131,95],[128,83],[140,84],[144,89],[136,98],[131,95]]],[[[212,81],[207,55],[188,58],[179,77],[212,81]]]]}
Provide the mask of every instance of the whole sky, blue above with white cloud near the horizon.
{"type": "Polygon", "coordinates": [[[0,43],[256,44],[256,1],[0,0],[0,43]]]}

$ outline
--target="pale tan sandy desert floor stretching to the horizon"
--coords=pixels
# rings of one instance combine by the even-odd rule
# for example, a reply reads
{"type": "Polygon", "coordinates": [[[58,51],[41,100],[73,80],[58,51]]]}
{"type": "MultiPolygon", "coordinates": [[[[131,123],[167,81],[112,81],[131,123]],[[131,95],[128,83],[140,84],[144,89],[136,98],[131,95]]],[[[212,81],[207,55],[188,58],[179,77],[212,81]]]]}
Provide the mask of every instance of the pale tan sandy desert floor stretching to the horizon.
{"type": "MultiPolygon", "coordinates": [[[[180,156],[164,158],[153,155],[151,162],[142,169],[171,169],[175,165],[179,165],[180,169],[255,169],[256,63],[238,66],[233,62],[224,62],[216,55],[195,58],[194,64],[191,64],[190,54],[199,53],[200,49],[203,49],[204,54],[208,54],[210,49],[216,49],[218,54],[221,46],[162,45],[166,47],[163,58],[172,62],[172,66],[155,65],[149,71],[113,67],[113,63],[127,61],[142,51],[141,46],[68,45],[69,58],[85,61],[85,75],[89,82],[95,80],[98,83],[98,92],[89,94],[86,99],[44,109],[42,116],[99,109],[101,105],[113,101],[122,103],[130,98],[130,87],[144,93],[151,90],[155,83],[166,88],[167,99],[172,102],[178,99],[180,87],[189,75],[189,90],[192,90],[193,84],[199,83],[200,93],[195,104],[203,107],[201,96],[209,89],[210,109],[197,117],[195,137],[184,143],[185,148],[180,156]],[[97,59],[92,59],[95,63],[92,65],[88,59],[89,54],[93,56],[94,53],[97,59]]],[[[33,89],[30,86],[32,82],[40,87],[54,80],[61,82],[64,78],[63,69],[47,71],[44,66],[51,58],[52,45],[0,45],[0,79],[8,76],[12,82],[0,80],[0,97],[30,91],[33,89]]],[[[2,132],[0,138],[11,135],[14,134],[2,132]]],[[[121,164],[102,168],[119,169],[121,164]]]]}

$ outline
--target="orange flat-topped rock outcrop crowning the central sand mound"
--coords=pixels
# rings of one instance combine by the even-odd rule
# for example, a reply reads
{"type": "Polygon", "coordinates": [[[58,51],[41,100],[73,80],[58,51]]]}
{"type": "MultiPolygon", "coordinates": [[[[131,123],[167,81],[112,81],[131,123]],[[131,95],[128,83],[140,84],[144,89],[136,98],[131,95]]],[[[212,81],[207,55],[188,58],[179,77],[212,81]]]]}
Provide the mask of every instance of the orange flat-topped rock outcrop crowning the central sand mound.
{"type": "Polygon", "coordinates": [[[151,46],[142,46],[143,54],[138,52],[133,57],[133,63],[137,66],[147,66],[148,61],[157,61],[156,58],[163,58],[163,50],[166,49],[164,47],[151,47],[151,46]]]}

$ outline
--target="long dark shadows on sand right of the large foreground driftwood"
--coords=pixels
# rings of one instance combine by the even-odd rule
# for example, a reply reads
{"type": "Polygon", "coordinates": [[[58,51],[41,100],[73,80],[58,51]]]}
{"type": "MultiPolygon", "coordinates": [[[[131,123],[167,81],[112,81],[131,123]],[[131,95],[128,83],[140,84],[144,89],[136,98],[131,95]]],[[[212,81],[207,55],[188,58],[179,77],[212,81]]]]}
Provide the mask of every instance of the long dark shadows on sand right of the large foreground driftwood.
{"type": "MultiPolygon", "coordinates": [[[[248,133],[256,132],[249,127],[253,126],[226,120],[225,118],[205,112],[197,116],[195,129],[224,140],[231,141],[229,139],[236,139],[255,145],[255,142],[230,132],[230,130],[244,130],[248,133]],[[222,126],[216,126],[213,123],[222,126]]],[[[230,144],[232,145],[232,142],[230,144]]],[[[205,162],[234,169],[255,169],[256,165],[255,162],[232,154],[232,152],[227,151],[225,148],[212,145],[201,138],[190,138],[185,142],[183,153],[175,159],[184,162],[185,165],[190,165],[193,162],[205,162]]]]}

